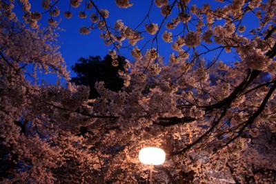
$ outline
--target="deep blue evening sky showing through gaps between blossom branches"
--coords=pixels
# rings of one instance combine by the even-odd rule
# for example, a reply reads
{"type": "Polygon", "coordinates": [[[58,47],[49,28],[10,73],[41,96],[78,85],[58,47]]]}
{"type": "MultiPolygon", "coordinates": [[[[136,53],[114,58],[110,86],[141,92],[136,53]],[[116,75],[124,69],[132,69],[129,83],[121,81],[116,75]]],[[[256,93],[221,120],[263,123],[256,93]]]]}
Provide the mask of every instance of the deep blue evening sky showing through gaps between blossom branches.
{"type": "MultiPolygon", "coordinates": [[[[84,1],[84,0],[83,0],[84,1]]],[[[210,1],[211,6],[223,6],[223,3],[219,3],[217,1],[210,1]]],[[[31,0],[32,3],[32,9],[31,10],[39,10],[39,12],[43,12],[44,10],[41,8],[41,1],[39,0],[31,0]]],[[[150,7],[150,0],[132,0],[132,3],[134,6],[130,8],[118,8],[115,4],[115,0],[95,0],[95,3],[100,9],[108,9],[110,11],[110,17],[108,17],[107,21],[108,24],[114,25],[115,21],[117,19],[121,19],[125,25],[128,25],[131,28],[135,28],[138,23],[144,19],[144,16],[146,12],[148,12],[148,8],[150,7]]],[[[209,1],[202,1],[202,0],[194,0],[191,1],[191,4],[197,3],[197,6],[202,6],[204,3],[209,3],[209,1]]],[[[87,19],[79,19],[78,12],[80,10],[84,10],[84,3],[79,8],[71,8],[73,17],[71,19],[66,19],[63,17],[63,12],[68,10],[69,7],[69,1],[68,0],[60,0],[59,3],[57,3],[57,6],[61,9],[61,16],[57,17],[57,20],[61,20],[61,23],[59,24],[59,27],[63,29],[63,31],[59,32],[59,42],[61,45],[61,53],[63,55],[63,58],[65,59],[68,70],[71,70],[71,66],[74,65],[74,63],[77,62],[77,59],[80,57],[88,57],[91,56],[101,56],[104,57],[108,50],[111,47],[107,47],[103,44],[103,40],[99,37],[99,30],[92,30],[92,32],[88,35],[79,34],[79,28],[81,26],[89,26],[91,24],[91,21],[89,19],[90,14],[92,12],[95,12],[95,9],[89,10],[87,12],[88,18],[87,19]]],[[[20,14],[21,12],[17,10],[17,13],[20,14]]],[[[172,16],[168,18],[170,20],[172,16]]],[[[39,21],[39,24],[41,26],[47,25],[47,20],[50,18],[50,15],[44,14],[43,19],[39,21]]],[[[160,9],[153,4],[152,10],[150,12],[150,20],[153,23],[158,23],[160,25],[162,19],[164,17],[160,14],[160,9]]],[[[145,23],[149,23],[149,21],[146,21],[145,23]]],[[[253,18],[252,14],[248,14],[244,21],[244,25],[247,27],[254,27],[257,25],[257,19],[253,18]]],[[[182,25],[178,25],[178,30],[182,28],[182,25]]],[[[144,30],[144,25],[141,25],[139,30],[144,30]]],[[[248,29],[249,30],[249,29],[248,29]]],[[[164,32],[161,30],[159,33],[159,53],[164,56],[165,61],[168,60],[169,54],[172,52],[172,49],[170,48],[170,43],[164,43],[164,41],[161,41],[161,34],[164,32]]],[[[179,31],[178,31],[179,32],[179,31]]],[[[177,30],[174,32],[177,33],[177,30]]],[[[144,45],[145,41],[150,39],[152,35],[144,33],[142,34],[144,37],[144,41],[141,41],[141,43],[138,44],[138,47],[141,48],[141,45],[144,45]]],[[[212,47],[211,47],[212,48],[212,47]]],[[[218,50],[219,51],[219,50],[218,50]]],[[[121,54],[125,57],[129,58],[131,61],[130,56],[130,50],[122,49],[121,54]]],[[[207,55],[207,59],[213,59],[216,56],[216,52],[212,52],[211,54],[207,55]]],[[[234,61],[235,57],[233,57],[233,54],[221,54],[221,57],[219,60],[224,60],[227,63],[234,61]]],[[[71,71],[71,76],[75,76],[75,74],[71,71]]]]}

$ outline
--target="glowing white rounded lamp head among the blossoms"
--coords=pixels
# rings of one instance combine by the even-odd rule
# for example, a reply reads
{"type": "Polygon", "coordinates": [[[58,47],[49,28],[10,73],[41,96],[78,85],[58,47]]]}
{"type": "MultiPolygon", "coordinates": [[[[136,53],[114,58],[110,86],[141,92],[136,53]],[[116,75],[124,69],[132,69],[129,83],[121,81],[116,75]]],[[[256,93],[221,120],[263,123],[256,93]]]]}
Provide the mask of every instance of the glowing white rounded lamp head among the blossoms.
{"type": "Polygon", "coordinates": [[[164,163],[166,153],[158,147],[144,147],[139,152],[139,161],[148,165],[160,165],[164,163]]]}

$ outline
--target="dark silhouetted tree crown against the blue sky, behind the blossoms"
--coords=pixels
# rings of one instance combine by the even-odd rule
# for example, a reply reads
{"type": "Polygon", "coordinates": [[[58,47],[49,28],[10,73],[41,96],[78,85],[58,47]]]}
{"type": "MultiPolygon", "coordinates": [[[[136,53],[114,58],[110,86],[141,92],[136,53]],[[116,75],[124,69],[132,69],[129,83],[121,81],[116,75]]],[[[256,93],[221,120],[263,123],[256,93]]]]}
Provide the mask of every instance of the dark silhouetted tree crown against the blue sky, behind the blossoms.
{"type": "Polygon", "coordinates": [[[72,77],[72,82],[77,85],[87,85],[90,87],[90,99],[95,99],[99,93],[95,89],[95,83],[103,81],[105,87],[109,90],[118,92],[124,86],[124,80],[119,77],[118,70],[125,71],[126,64],[124,57],[118,57],[119,65],[112,65],[112,58],[106,55],[102,60],[101,57],[81,57],[78,62],[72,66],[72,70],[77,73],[72,77]]]}

